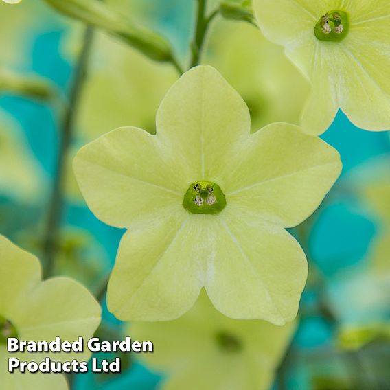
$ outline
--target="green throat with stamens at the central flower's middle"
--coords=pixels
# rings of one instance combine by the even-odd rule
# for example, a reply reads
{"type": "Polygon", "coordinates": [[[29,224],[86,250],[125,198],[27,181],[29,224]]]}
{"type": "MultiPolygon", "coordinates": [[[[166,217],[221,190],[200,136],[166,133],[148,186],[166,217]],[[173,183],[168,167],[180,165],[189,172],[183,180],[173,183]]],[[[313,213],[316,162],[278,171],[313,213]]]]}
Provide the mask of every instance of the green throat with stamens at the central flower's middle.
{"type": "Polygon", "coordinates": [[[192,214],[219,214],[225,206],[220,186],[210,181],[192,183],[183,199],[183,207],[192,214]]]}

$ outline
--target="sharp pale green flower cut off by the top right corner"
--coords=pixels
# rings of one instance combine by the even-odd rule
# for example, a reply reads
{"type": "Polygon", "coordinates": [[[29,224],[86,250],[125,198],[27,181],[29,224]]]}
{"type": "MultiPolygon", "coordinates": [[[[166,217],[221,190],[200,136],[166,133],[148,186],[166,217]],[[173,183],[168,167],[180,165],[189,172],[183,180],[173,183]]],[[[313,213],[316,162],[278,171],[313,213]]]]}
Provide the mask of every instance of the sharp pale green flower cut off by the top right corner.
{"type": "Polygon", "coordinates": [[[390,128],[389,1],[253,3],[262,32],[312,82],[303,130],[323,133],[338,108],[360,128],[390,128]]]}

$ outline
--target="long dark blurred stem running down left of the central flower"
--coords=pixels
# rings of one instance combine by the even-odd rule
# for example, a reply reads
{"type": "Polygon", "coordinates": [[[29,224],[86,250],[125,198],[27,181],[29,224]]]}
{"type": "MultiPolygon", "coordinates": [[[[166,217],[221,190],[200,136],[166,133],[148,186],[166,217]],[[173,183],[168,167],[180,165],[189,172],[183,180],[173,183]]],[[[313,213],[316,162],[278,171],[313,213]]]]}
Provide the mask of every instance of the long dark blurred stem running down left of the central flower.
{"type": "Polygon", "coordinates": [[[93,41],[93,27],[87,26],[84,32],[84,40],[78,62],[76,63],[73,84],[69,96],[69,104],[65,108],[62,118],[62,126],[60,126],[60,147],[58,150],[58,161],[56,168],[56,176],[54,177],[53,190],[49,203],[49,212],[45,228],[45,236],[43,242],[43,257],[44,276],[51,276],[54,268],[54,256],[58,246],[58,238],[60,235],[60,222],[62,217],[63,206],[63,179],[65,177],[67,154],[73,135],[76,116],[78,113],[78,102],[84,85],[85,74],[91,52],[93,41]]]}

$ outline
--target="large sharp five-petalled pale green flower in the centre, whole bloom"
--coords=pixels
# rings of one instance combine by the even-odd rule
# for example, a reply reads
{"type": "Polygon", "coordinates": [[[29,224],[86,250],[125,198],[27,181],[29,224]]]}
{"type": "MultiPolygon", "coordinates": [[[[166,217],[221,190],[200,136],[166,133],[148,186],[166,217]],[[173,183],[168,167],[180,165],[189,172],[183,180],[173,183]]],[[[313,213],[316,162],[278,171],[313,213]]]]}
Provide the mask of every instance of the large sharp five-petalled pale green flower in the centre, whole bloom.
{"type": "Polygon", "coordinates": [[[205,287],[228,317],[295,318],[307,264],[284,227],[312,214],[341,162],[297,126],[250,127],[240,95],[195,67],[165,95],[157,135],[119,128],[78,152],[87,204],[129,229],[108,284],[117,317],[175,319],[205,287]]]}

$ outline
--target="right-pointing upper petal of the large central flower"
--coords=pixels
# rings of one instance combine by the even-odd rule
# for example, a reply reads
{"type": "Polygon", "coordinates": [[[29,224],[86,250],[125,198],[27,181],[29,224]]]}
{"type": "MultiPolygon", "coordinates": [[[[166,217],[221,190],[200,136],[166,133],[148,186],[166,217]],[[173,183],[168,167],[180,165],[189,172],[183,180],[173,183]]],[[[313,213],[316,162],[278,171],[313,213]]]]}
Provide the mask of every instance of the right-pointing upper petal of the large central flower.
{"type": "Polygon", "coordinates": [[[290,124],[266,126],[240,147],[225,167],[227,204],[284,227],[308,218],[341,171],[336,150],[290,124]]]}

